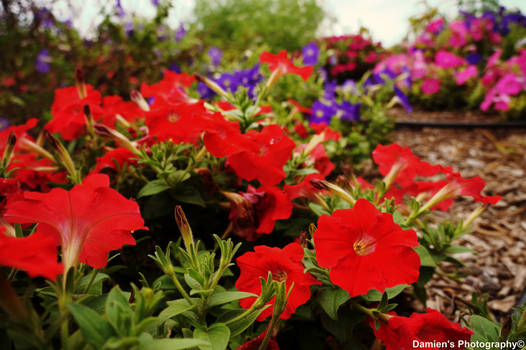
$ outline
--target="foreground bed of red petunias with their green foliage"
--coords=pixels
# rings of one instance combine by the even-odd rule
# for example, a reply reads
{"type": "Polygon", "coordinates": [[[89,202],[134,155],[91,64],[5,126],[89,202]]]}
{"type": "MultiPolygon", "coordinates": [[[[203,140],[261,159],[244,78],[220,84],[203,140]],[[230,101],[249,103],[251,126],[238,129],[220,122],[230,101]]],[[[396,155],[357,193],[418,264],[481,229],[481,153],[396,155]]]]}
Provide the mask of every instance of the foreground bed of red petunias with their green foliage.
{"type": "Polygon", "coordinates": [[[75,86],[55,90],[42,131],[32,119],[0,133],[10,346],[464,349],[521,339],[523,308],[501,331],[478,295],[462,325],[407,303],[425,305],[444,263],[461,266],[454,255],[470,250],[454,241],[500,197],[482,194],[480,177],[380,144],[392,84],[366,77],[331,95],[285,51],[236,74],[233,89],[225,76],[165,71],[126,101],[102,97],[77,71],[75,86]],[[200,99],[199,83],[214,96],[200,99]],[[302,107],[313,86],[320,104],[340,106],[327,118],[302,107]],[[346,117],[358,100],[360,120],[346,117]],[[373,184],[358,176],[371,153],[373,184]],[[429,220],[459,197],[479,206],[429,220]]]}

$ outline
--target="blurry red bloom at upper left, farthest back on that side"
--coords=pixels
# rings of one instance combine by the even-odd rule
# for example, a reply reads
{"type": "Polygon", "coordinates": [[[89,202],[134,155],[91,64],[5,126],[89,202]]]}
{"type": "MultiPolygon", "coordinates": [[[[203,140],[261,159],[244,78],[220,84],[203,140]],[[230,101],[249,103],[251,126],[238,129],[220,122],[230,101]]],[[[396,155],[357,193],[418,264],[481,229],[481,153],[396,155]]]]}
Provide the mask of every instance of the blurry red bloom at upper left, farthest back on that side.
{"type": "Polygon", "coordinates": [[[85,131],[86,116],[84,106],[88,105],[94,120],[98,120],[102,110],[101,96],[93,86],[86,84],[87,96],[83,99],[75,86],[55,90],[55,100],[51,106],[53,119],[45,129],[50,133],[59,133],[64,140],[74,140],[85,131]]]}

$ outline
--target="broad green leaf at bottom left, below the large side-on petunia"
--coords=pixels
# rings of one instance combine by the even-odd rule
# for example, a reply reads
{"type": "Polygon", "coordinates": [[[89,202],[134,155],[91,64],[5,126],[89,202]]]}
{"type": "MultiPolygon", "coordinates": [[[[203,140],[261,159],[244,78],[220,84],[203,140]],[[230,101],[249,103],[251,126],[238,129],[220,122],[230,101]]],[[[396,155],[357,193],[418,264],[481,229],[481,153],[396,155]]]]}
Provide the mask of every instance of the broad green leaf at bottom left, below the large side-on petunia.
{"type": "Polygon", "coordinates": [[[89,307],[73,303],[67,307],[79,325],[84,340],[95,349],[101,349],[106,340],[115,335],[108,322],[89,307]]]}

